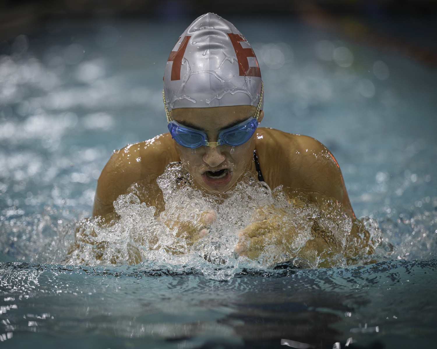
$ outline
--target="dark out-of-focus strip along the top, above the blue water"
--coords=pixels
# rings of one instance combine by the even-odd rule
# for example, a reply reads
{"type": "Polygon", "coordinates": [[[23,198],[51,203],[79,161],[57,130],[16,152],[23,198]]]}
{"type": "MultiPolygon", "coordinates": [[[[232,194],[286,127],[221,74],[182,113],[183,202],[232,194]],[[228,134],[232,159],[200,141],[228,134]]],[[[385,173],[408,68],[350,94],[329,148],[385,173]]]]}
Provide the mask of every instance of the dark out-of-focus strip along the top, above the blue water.
{"type": "Polygon", "coordinates": [[[206,12],[225,18],[260,14],[298,17],[354,41],[437,65],[434,0],[3,0],[0,54],[9,53],[8,41],[17,35],[41,29],[61,31],[66,20],[121,17],[175,21],[194,19],[206,12]]]}

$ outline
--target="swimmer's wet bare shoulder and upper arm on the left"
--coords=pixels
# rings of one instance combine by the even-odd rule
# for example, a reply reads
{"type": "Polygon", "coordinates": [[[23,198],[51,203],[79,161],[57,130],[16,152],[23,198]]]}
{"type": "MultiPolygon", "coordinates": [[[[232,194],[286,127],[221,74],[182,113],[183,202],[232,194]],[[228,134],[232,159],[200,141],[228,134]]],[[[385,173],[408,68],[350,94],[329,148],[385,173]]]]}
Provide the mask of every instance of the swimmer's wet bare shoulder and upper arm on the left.
{"type": "Polygon", "coordinates": [[[173,161],[179,161],[179,157],[170,133],[115,151],[97,181],[93,216],[114,219],[113,202],[119,195],[142,179],[155,181],[173,161]]]}

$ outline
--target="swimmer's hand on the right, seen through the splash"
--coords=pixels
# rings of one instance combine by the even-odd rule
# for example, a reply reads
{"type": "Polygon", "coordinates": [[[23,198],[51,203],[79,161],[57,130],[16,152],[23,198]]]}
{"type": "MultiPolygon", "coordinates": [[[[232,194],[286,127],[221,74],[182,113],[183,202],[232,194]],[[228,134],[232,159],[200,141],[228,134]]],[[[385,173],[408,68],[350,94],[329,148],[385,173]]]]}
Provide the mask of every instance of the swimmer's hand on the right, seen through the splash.
{"type": "Polygon", "coordinates": [[[251,223],[239,231],[235,251],[250,259],[259,257],[266,248],[273,249],[270,252],[274,254],[287,252],[298,235],[289,220],[283,209],[261,206],[250,218],[251,223]]]}

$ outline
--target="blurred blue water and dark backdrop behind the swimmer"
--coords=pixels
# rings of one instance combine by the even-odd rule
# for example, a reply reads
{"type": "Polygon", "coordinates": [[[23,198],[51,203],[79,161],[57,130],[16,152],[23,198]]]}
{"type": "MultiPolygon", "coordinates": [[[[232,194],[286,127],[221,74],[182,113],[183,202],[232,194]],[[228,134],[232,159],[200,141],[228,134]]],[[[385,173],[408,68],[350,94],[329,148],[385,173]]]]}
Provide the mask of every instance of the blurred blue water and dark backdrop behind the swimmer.
{"type": "Polygon", "coordinates": [[[437,1],[3,0],[4,256],[32,259],[60,226],[90,216],[112,151],[167,132],[166,59],[206,12],[253,46],[266,96],[261,126],[320,140],[340,164],[357,216],[378,219],[399,242],[422,229],[414,253],[429,253],[437,1]]]}

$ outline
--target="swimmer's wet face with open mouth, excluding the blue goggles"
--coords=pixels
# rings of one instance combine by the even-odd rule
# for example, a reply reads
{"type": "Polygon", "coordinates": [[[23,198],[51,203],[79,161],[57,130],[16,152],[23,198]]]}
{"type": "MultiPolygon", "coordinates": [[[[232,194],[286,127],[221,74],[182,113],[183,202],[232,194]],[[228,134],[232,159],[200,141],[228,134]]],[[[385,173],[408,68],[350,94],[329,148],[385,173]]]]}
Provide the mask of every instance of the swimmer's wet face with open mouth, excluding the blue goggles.
{"type": "MultiPolygon", "coordinates": [[[[255,116],[254,106],[218,106],[212,108],[177,108],[170,116],[178,123],[205,132],[208,142],[217,142],[218,133],[255,116]]],[[[261,111],[258,121],[264,114],[261,111]]],[[[252,166],[256,132],[246,143],[232,147],[201,146],[195,149],[183,147],[173,140],[180,160],[198,185],[210,192],[225,192],[236,184],[238,178],[252,166]],[[193,154],[194,153],[194,154],[193,154]]]]}

